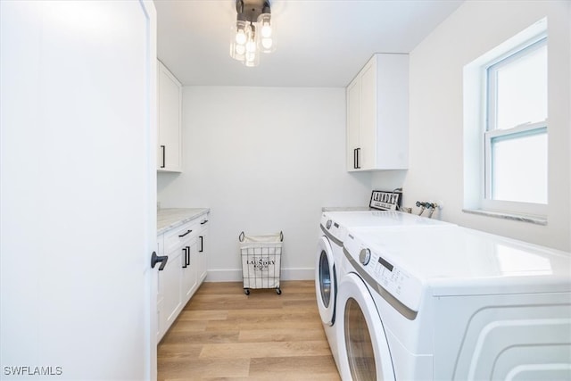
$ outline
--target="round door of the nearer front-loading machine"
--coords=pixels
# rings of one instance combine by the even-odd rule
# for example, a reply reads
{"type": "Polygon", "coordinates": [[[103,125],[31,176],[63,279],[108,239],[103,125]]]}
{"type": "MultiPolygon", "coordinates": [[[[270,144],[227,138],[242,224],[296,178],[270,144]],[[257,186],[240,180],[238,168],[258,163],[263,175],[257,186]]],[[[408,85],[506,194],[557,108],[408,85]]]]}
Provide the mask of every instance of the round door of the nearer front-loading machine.
{"type": "Polygon", "coordinates": [[[383,322],[365,282],[355,273],[343,277],[337,299],[335,332],[343,380],[394,380],[393,360],[383,322]]]}

